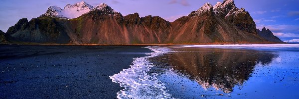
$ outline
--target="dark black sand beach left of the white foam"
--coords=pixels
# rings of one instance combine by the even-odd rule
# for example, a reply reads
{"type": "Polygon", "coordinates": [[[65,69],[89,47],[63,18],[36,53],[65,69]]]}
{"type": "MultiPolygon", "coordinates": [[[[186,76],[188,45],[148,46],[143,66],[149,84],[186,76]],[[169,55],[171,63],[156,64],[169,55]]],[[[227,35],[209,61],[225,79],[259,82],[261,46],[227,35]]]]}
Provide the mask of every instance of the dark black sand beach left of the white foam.
{"type": "Polygon", "coordinates": [[[115,99],[109,76],[151,52],[142,46],[0,45],[0,99],[115,99]]]}

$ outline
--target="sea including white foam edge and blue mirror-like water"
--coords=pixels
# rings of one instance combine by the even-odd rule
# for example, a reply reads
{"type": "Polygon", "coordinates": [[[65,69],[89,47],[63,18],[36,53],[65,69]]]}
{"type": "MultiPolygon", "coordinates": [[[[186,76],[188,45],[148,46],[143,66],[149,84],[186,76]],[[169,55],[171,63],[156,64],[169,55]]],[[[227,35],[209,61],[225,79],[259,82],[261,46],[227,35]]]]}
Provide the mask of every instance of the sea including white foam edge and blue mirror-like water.
{"type": "Polygon", "coordinates": [[[147,46],[118,99],[298,99],[299,44],[147,46]]]}

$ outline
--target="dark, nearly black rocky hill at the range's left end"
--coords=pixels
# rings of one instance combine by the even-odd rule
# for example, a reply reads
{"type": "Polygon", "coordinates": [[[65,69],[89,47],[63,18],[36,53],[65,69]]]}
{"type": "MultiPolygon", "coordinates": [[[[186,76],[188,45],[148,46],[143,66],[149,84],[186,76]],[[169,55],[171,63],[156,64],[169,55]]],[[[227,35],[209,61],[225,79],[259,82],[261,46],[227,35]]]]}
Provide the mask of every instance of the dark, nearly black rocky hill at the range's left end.
{"type": "Polygon", "coordinates": [[[11,43],[55,43],[67,44],[69,37],[55,18],[38,17],[31,21],[20,19],[10,27],[5,34],[6,40],[11,43]]]}

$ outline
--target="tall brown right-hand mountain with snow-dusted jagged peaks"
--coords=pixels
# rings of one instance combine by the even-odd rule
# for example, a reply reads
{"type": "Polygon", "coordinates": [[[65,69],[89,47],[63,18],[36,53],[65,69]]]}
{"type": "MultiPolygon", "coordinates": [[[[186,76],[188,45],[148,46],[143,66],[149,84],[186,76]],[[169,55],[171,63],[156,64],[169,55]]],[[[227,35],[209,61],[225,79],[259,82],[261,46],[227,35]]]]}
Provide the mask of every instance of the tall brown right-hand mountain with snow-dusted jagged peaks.
{"type": "Polygon", "coordinates": [[[169,43],[235,43],[264,42],[256,25],[244,8],[238,9],[233,0],[212,6],[204,4],[197,11],[171,23],[169,43]]]}

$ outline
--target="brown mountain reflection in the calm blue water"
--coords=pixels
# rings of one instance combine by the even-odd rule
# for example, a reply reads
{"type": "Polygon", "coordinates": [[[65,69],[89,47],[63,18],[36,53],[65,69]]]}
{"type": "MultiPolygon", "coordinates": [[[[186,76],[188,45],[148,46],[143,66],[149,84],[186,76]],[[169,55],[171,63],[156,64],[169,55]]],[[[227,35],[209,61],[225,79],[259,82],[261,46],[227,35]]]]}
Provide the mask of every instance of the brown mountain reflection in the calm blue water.
{"type": "Polygon", "coordinates": [[[186,75],[204,89],[231,93],[242,86],[257,65],[269,65],[278,55],[273,51],[249,49],[182,48],[152,59],[186,75]]]}

